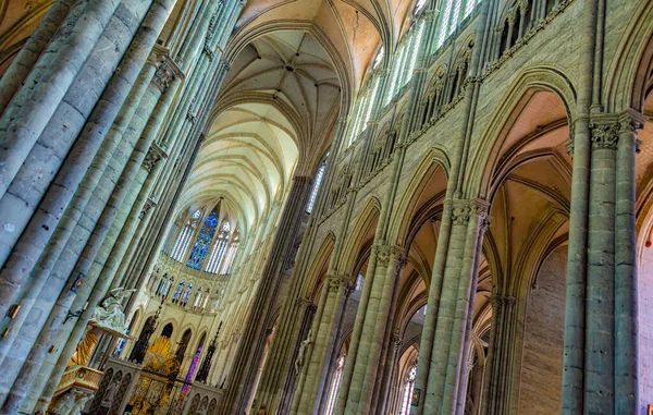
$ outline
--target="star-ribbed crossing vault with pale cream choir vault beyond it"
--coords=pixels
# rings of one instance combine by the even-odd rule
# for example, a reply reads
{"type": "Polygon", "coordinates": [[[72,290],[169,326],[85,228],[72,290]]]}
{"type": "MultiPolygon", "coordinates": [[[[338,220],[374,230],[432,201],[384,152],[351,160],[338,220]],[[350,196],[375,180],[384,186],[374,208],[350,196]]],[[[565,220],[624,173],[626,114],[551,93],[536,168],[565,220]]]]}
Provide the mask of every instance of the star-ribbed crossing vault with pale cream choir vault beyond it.
{"type": "Polygon", "coordinates": [[[282,203],[293,174],[311,175],[333,138],[341,85],[321,42],[279,30],[233,61],[183,206],[220,197],[249,228],[282,203]]]}

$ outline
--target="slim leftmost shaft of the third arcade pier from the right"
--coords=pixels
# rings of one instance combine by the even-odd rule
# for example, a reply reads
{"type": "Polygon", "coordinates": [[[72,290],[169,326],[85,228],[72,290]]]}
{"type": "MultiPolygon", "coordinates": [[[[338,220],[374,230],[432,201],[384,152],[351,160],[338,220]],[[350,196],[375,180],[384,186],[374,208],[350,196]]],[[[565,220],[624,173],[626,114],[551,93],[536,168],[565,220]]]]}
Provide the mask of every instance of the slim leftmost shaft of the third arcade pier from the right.
{"type": "Polygon", "coordinates": [[[360,338],[362,335],[364,325],[366,320],[366,314],[372,293],[372,285],[374,276],[377,273],[377,254],[378,248],[372,247],[372,253],[368,259],[368,269],[365,276],[365,282],[362,284],[362,293],[360,295],[360,302],[356,313],[356,319],[354,321],[354,330],[352,332],[352,341],[349,342],[349,350],[347,352],[347,359],[345,361],[345,368],[343,370],[343,377],[341,380],[340,392],[337,395],[337,406],[335,408],[336,415],[344,415],[345,406],[348,402],[349,387],[354,380],[354,369],[356,366],[356,357],[358,355],[358,349],[360,345],[360,338]]]}

